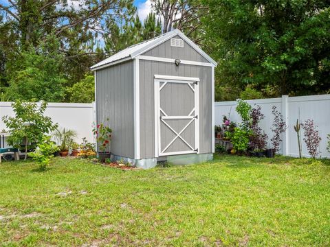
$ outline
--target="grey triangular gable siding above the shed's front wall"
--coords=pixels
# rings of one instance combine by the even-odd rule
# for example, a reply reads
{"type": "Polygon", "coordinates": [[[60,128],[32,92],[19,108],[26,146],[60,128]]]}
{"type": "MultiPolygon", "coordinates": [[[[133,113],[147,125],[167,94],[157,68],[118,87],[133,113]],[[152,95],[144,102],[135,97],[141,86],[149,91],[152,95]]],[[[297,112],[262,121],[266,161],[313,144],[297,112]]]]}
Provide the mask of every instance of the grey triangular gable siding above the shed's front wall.
{"type": "MultiPolygon", "coordinates": [[[[174,38],[180,38],[175,36],[174,38]]],[[[166,40],[164,43],[157,45],[153,49],[146,51],[144,56],[155,56],[160,58],[173,58],[180,60],[189,60],[197,62],[208,62],[201,54],[195,49],[190,47],[188,43],[184,42],[184,47],[171,47],[170,40],[166,40]]]]}

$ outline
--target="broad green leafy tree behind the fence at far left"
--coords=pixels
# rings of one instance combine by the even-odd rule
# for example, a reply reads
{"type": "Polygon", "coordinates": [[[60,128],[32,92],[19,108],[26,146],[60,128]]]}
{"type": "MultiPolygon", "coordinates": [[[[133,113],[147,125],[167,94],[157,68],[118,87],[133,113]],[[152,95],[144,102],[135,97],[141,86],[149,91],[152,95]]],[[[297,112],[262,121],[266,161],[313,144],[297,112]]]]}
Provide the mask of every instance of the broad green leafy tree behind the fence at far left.
{"type": "Polygon", "coordinates": [[[33,48],[23,51],[20,63],[11,75],[7,97],[32,102],[62,102],[66,83],[61,73],[63,60],[63,55],[37,53],[33,48]]]}

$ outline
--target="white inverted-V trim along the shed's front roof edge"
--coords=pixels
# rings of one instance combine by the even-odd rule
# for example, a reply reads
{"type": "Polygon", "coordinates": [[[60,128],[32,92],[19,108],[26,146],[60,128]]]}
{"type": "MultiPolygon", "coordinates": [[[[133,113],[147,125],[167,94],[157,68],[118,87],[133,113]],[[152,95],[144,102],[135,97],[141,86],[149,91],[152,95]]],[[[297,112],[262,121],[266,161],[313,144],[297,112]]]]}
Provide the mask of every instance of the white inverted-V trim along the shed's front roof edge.
{"type": "Polygon", "coordinates": [[[153,49],[157,45],[164,43],[166,40],[169,40],[170,38],[173,38],[174,36],[179,36],[180,38],[182,38],[184,41],[186,41],[186,43],[188,43],[188,45],[190,45],[190,47],[192,47],[192,49],[195,49],[195,51],[197,51],[199,54],[201,54],[201,56],[203,56],[206,60],[208,60],[210,63],[214,64],[214,66],[217,66],[217,62],[215,62],[210,56],[208,56],[208,54],[206,54],[201,48],[199,48],[195,43],[192,42],[192,40],[190,40],[186,35],[181,33],[179,30],[174,30],[173,32],[169,32],[168,35],[162,36],[161,38],[155,40],[154,43],[151,43],[150,45],[147,45],[146,47],[142,47],[141,49],[133,52],[131,54],[131,57],[135,58],[136,56],[139,56],[139,55],[143,54],[144,52],[153,49]]]}

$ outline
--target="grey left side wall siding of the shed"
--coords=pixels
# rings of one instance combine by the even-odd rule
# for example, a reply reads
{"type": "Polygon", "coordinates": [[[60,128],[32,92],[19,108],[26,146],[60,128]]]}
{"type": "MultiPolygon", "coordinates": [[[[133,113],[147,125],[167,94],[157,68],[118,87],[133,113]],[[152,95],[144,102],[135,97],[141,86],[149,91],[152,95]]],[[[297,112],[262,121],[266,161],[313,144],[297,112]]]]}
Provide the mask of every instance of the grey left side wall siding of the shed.
{"type": "Polygon", "coordinates": [[[134,158],[133,61],[96,72],[97,122],[113,130],[111,153],[134,158]]]}

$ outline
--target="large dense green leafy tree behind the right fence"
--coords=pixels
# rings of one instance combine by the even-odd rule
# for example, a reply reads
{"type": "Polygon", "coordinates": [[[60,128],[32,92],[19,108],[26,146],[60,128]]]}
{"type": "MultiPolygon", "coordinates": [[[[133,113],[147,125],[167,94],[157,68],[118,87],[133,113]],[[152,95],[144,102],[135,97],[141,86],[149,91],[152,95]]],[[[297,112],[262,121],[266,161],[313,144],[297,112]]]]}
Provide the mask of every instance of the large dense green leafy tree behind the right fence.
{"type": "Polygon", "coordinates": [[[329,1],[203,0],[206,43],[219,61],[217,84],[263,95],[327,93],[329,1]]]}

